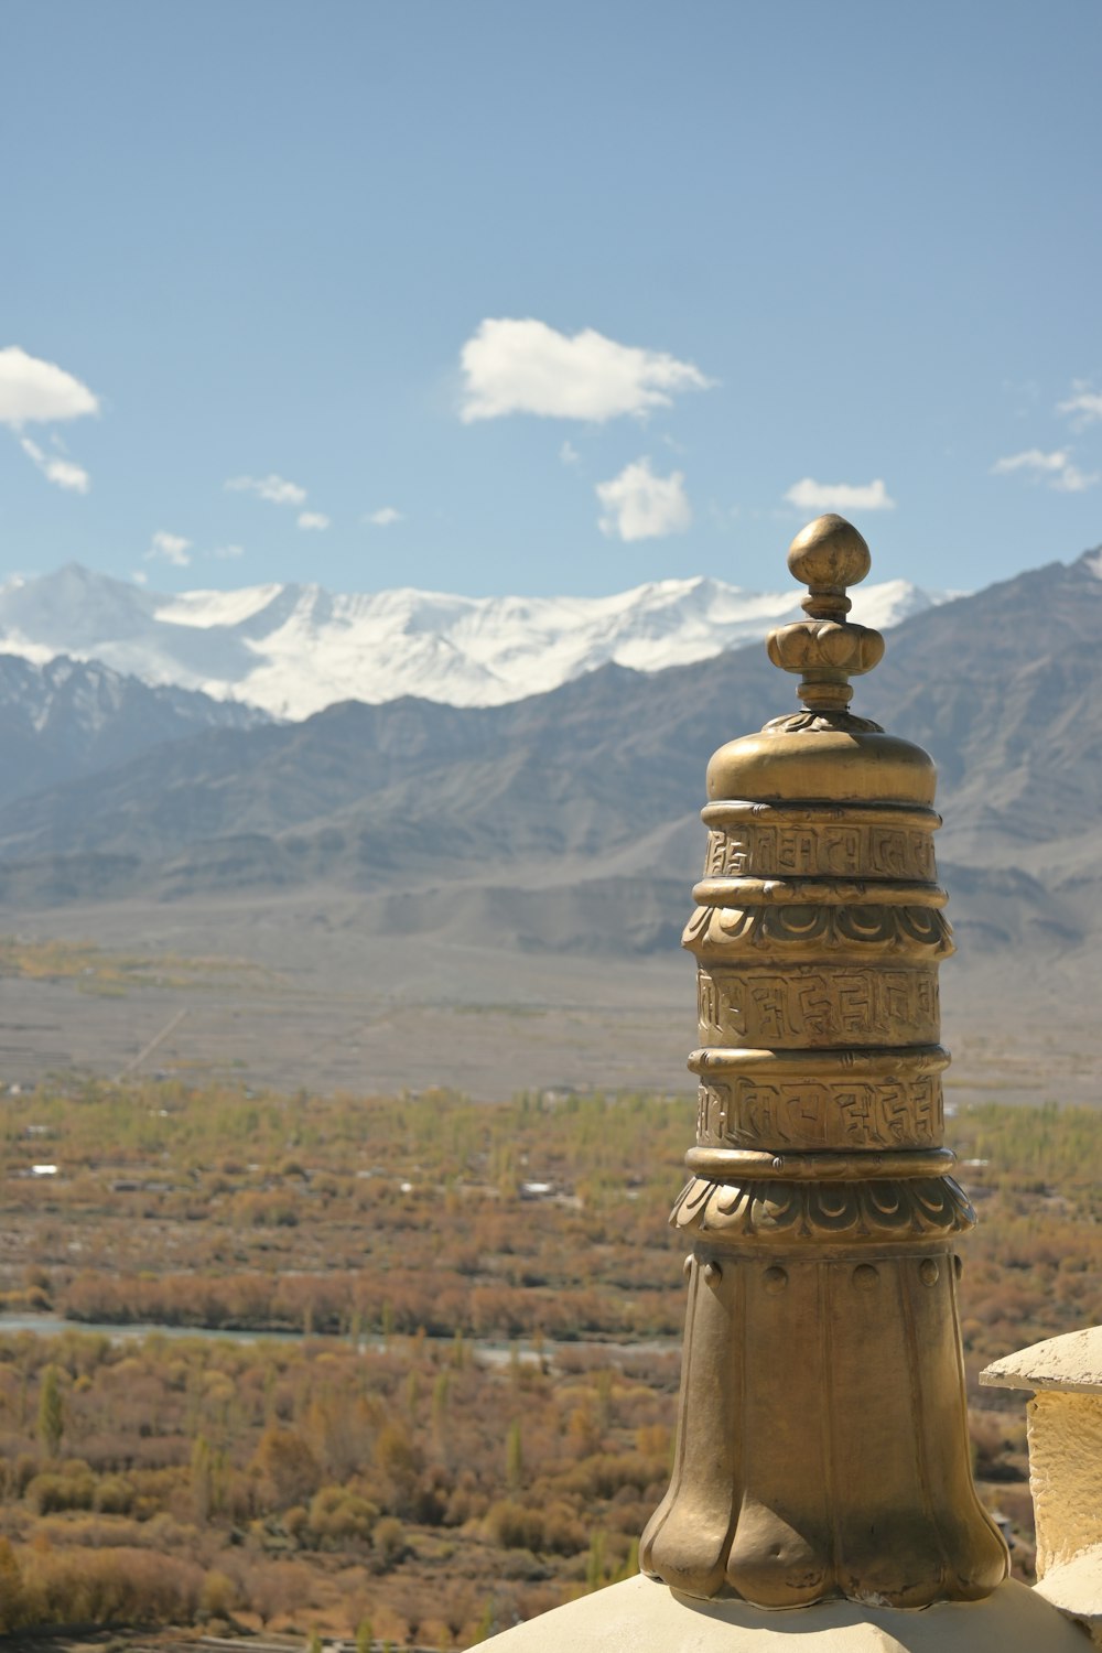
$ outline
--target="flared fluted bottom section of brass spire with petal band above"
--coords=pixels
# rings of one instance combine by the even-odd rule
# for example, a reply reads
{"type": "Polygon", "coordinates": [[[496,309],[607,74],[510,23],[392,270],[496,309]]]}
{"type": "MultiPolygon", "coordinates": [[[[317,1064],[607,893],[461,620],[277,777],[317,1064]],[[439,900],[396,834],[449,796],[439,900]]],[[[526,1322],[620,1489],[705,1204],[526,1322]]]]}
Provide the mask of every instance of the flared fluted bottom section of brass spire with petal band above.
{"type": "Polygon", "coordinates": [[[772,1203],[790,1223],[788,1246],[777,1222],[747,1223],[753,1189],[719,1190],[737,1228],[697,1200],[677,1460],[643,1534],[649,1575],[770,1608],[967,1602],[1006,1575],[970,1470],[950,1238],[967,1208],[948,1179],[897,1187],[909,1203],[891,1184],[815,1189],[823,1210],[803,1189],[795,1203],[768,1190],[762,1217],[772,1203]]]}

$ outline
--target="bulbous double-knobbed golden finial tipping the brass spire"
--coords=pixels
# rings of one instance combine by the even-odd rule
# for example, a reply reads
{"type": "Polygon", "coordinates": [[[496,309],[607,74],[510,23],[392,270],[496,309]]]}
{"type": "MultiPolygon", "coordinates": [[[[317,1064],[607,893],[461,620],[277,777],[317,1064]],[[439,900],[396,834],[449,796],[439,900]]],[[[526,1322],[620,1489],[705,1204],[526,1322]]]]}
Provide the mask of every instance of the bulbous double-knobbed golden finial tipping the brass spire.
{"type": "Polygon", "coordinates": [[[788,547],[788,567],[808,587],[808,618],[770,631],[767,648],[775,666],[801,673],[796,694],[810,712],[844,714],[849,678],[872,671],[884,655],[879,631],[846,618],[846,587],[862,580],[871,562],[861,534],[839,516],[816,517],[788,547]]]}

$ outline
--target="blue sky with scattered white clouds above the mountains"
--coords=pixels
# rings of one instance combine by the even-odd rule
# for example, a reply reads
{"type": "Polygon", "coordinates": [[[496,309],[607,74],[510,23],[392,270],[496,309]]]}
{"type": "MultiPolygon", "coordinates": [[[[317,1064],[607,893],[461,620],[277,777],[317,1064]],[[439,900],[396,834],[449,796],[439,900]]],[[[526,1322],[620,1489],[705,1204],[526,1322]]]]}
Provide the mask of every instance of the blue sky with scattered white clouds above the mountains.
{"type": "Polygon", "coordinates": [[[1097,0],[7,0],[0,48],[3,577],[1102,541],[1097,0]]]}

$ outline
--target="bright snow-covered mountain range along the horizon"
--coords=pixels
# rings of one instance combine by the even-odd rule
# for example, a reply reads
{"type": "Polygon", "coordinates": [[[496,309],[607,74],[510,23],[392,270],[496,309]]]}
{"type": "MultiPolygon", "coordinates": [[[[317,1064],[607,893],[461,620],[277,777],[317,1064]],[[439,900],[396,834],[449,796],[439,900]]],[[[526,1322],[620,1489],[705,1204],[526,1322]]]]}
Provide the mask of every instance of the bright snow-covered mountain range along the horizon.
{"type": "MultiPolygon", "coordinates": [[[[884,630],[953,597],[889,580],[854,592],[884,630]]],[[[638,671],[707,660],[796,618],[798,593],[656,580],[615,597],[449,597],[321,585],[159,595],[68,564],[0,587],[0,651],[99,660],[149,684],[202,689],[278,717],[403,694],[499,706],[608,661],[638,671]]]]}

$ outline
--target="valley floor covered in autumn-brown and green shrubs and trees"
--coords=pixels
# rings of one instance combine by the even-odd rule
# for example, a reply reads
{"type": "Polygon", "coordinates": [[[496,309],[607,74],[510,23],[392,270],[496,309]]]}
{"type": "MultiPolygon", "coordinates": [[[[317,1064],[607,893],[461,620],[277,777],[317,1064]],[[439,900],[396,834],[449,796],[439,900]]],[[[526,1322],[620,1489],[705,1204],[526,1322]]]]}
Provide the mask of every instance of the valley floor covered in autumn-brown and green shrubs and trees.
{"type": "MultiPolygon", "coordinates": [[[[671,1465],[689,1127],[653,1094],[8,1093],[0,1633],[451,1648],[633,1572],[671,1465]]],[[[976,1473],[1028,1575],[1023,1408],[976,1374],[1102,1319],[1102,1111],[983,1103],[950,1141],[981,1217],[976,1473]]]]}

